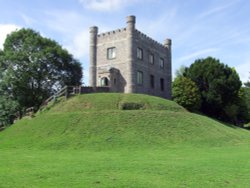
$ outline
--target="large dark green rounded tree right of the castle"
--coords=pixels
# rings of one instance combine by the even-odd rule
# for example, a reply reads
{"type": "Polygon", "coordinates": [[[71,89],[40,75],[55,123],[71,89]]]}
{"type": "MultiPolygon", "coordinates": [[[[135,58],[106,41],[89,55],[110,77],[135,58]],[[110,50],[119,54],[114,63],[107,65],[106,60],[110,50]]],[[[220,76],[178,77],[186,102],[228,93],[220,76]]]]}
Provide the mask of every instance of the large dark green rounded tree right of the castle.
{"type": "Polygon", "coordinates": [[[234,69],[208,57],[196,60],[185,70],[184,76],[190,78],[199,88],[202,113],[224,120],[234,113],[236,107],[232,105],[241,88],[239,75],[234,69]],[[231,112],[225,113],[225,110],[231,112]]]}

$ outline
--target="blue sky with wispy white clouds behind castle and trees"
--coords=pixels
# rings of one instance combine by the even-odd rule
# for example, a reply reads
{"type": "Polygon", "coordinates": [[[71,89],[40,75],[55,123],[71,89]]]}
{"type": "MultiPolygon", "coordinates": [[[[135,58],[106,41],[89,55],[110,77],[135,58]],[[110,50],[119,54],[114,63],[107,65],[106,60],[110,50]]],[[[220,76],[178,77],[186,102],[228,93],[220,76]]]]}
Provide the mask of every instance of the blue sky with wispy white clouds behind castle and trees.
{"type": "Polygon", "coordinates": [[[78,59],[88,85],[89,27],[136,28],[158,42],[172,39],[172,72],[212,56],[250,78],[249,0],[0,0],[0,49],[6,35],[31,28],[78,59]]]}

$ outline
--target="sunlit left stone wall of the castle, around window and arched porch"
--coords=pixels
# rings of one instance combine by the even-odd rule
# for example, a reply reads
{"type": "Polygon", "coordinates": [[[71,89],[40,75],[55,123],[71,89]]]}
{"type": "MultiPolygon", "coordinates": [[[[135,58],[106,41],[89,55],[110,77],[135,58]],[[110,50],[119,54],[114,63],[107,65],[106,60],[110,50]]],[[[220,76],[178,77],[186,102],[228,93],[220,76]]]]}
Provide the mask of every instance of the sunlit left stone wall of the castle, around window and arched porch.
{"type": "Polygon", "coordinates": [[[100,81],[104,72],[108,72],[111,68],[118,69],[120,76],[112,78],[109,76],[111,90],[116,92],[125,92],[127,88],[126,80],[128,77],[128,41],[126,28],[99,34],[97,37],[97,86],[100,86],[100,81]],[[116,48],[116,57],[107,59],[107,49],[116,48]],[[114,80],[116,79],[116,80],[114,80]],[[116,83],[115,83],[116,82],[116,83]],[[118,88],[117,88],[118,87],[118,88]]]}

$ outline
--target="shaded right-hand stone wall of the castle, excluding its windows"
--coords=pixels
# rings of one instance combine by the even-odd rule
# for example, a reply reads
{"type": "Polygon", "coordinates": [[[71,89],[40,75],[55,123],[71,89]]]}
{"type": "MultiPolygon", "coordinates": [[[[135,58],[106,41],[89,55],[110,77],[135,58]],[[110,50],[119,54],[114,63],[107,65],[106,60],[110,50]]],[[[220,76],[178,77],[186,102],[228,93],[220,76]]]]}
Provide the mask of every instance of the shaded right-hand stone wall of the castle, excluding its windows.
{"type": "MultiPolygon", "coordinates": [[[[133,41],[135,72],[143,72],[143,84],[136,85],[136,93],[147,93],[164,98],[171,98],[171,52],[164,45],[151,39],[140,31],[136,30],[133,41]],[[143,59],[136,57],[136,50],[143,50],[143,59]],[[154,63],[149,62],[149,55],[153,54],[154,63]],[[164,60],[164,67],[160,67],[160,58],[164,60]],[[154,88],[151,87],[150,76],[154,76],[154,88]],[[160,79],[164,79],[164,90],[161,90],[160,79]]],[[[133,78],[136,82],[136,74],[133,78]]]]}

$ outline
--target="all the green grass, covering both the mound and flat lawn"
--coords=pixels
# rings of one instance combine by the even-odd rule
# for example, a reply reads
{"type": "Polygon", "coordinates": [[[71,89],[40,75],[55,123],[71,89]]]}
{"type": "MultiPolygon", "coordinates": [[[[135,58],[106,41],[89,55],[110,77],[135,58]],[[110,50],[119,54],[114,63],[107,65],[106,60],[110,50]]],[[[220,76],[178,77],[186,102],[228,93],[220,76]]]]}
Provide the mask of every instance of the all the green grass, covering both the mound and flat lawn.
{"type": "Polygon", "coordinates": [[[249,187],[249,140],[157,97],[80,95],[0,132],[0,187],[249,187]]]}

